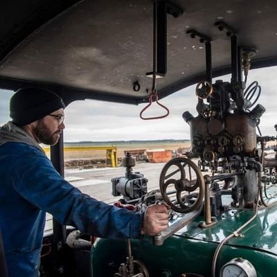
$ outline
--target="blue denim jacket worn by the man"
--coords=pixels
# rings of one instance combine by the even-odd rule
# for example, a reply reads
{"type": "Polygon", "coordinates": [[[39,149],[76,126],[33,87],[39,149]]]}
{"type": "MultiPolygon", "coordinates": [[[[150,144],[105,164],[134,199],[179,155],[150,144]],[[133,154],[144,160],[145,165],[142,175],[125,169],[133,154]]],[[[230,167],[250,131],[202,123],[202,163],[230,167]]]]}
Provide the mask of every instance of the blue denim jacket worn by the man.
{"type": "Polygon", "coordinates": [[[9,277],[37,277],[46,212],[101,238],[139,238],[142,215],[99,202],[65,181],[26,143],[0,146],[0,229],[9,277]]]}

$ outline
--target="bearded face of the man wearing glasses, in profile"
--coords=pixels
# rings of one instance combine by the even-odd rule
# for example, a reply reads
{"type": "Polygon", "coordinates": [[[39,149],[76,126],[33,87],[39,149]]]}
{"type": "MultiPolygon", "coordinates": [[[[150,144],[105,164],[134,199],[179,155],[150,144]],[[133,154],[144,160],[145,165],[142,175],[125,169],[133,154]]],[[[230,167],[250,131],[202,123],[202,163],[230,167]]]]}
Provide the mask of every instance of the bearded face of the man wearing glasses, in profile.
{"type": "Polygon", "coordinates": [[[57,109],[51,115],[37,120],[37,124],[33,127],[33,135],[38,143],[46,145],[55,145],[60,139],[62,129],[64,129],[64,109],[57,109]],[[62,122],[61,122],[62,121],[62,122]]]}

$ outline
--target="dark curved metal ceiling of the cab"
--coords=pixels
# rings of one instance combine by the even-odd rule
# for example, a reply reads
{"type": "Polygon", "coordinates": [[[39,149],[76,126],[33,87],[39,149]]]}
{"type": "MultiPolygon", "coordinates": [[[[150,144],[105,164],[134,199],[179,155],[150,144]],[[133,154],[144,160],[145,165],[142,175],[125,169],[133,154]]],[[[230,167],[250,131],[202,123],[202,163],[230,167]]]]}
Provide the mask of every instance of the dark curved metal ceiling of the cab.
{"type": "MultiPolygon", "coordinates": [[[[168,2],[169,3],[169,2],[168,2]]],[[[213,77],[229,73],[231,43],[216,21],[256,48],[251,68],[277,64],[275,0],[170,1],[166,75],[160,98],[206,79],[205,44],[211,38],[213,77]]],[[[55,89],[66,102],[84,98],[139,104],[148,99],[153,71],[153,2],[150,0],[21,1],[0,3],[0,87],[55,89]],[[136,85],[134,90],[134,83],[136,85]]],[[[158,44],[159,48],[159,44],[158,44]]]]}

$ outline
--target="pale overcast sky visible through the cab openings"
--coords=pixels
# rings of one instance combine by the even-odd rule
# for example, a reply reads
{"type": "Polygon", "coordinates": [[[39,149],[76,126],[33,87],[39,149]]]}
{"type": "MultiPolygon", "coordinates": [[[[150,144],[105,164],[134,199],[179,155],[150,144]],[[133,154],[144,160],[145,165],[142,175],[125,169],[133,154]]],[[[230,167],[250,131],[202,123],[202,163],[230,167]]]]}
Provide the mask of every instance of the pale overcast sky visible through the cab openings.
{"type": "MultiPolygon", "coordinates": [[[[213,82],[230,81],[230,78],[230,75],[226,75],[213,79],[213,82]]],[[[259,127],[262,135],[276,135],[274,129],[277,123],[276,79],[277,66],[249,71],[247,86],[255,80],[258,81],[262,92],[257,103],[267,109],[260,118],[259,127]]],[[[184,111],[190,111],[193,116],[197,116],[195,87],[196,85],[193,85],[181,89],[161,99],[159,102],[168,107],[170,114],[157,120],[142,120],[139,117],[146,104],[136,106],[99,100],[75,101],[65,109],[64,141],[190,139],[190,129],[182,114],[184,111]]],[[[0,125],[10,120],[8,105],[12,93],[12,91],[0,91],[0,125]]],[[[143,115],[147,117],[163,114],[165,111],[157,103],[153,103],[143,115]]]]}

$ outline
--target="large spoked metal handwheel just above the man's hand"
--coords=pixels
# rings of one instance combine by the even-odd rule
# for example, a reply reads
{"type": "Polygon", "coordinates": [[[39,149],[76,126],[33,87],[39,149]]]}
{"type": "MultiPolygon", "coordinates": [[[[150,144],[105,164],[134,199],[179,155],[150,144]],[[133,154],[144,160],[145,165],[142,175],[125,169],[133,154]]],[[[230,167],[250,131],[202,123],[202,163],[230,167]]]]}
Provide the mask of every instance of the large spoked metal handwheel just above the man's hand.
{"type": "Polygon", "coordinates": [[[160,176],[163,200],[178,213],[189,213],[202,205],[205,181],[197,165],[185,157],[174,158],[163,167],[160,176]],[[176,195],[172,202],[168,195],[176,195]]]}

